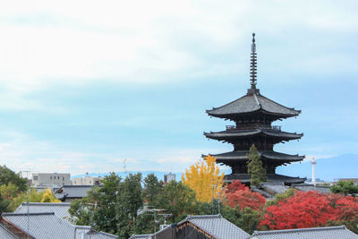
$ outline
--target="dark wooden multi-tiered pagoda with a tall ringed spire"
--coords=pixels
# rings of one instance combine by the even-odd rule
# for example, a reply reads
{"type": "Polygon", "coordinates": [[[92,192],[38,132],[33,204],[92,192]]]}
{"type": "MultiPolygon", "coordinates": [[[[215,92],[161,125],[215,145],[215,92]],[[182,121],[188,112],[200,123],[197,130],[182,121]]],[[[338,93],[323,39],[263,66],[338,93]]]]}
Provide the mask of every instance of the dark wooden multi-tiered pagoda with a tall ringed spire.
{"type": "MultiPolygon", "coordinates": [[[[231,120],[234,125],[227,125],[226,131],[204,132],[204,135],[213,140],[233,144],[234,150],[221,154],[213,154],[217,163],[230,166],[231,175],[225,175],[225,182],[239,179],[250,184],[251,175],[247,173],[247,155],[252,144],[259,151],[263,166],[266,168],[268,182],[283,182],[286,185],[301,184],[305,178],[277,175],[276,167],[302,161],[304,156],[289,155],[274,150],[274,145],[280,142],[299,140],[303,133],[284,132],[281,126],[272,125],[274,121],[294,117],[300,110],[284,107],[277,102],[260,94],[256,88],[257,55],[255,33],[252,34],[251,45],[251,88],[246,95],[222,107],[207,110],[213,117],[231,120]]],[[[211,155],[211,154],[210,154],[211,155]]]]}

